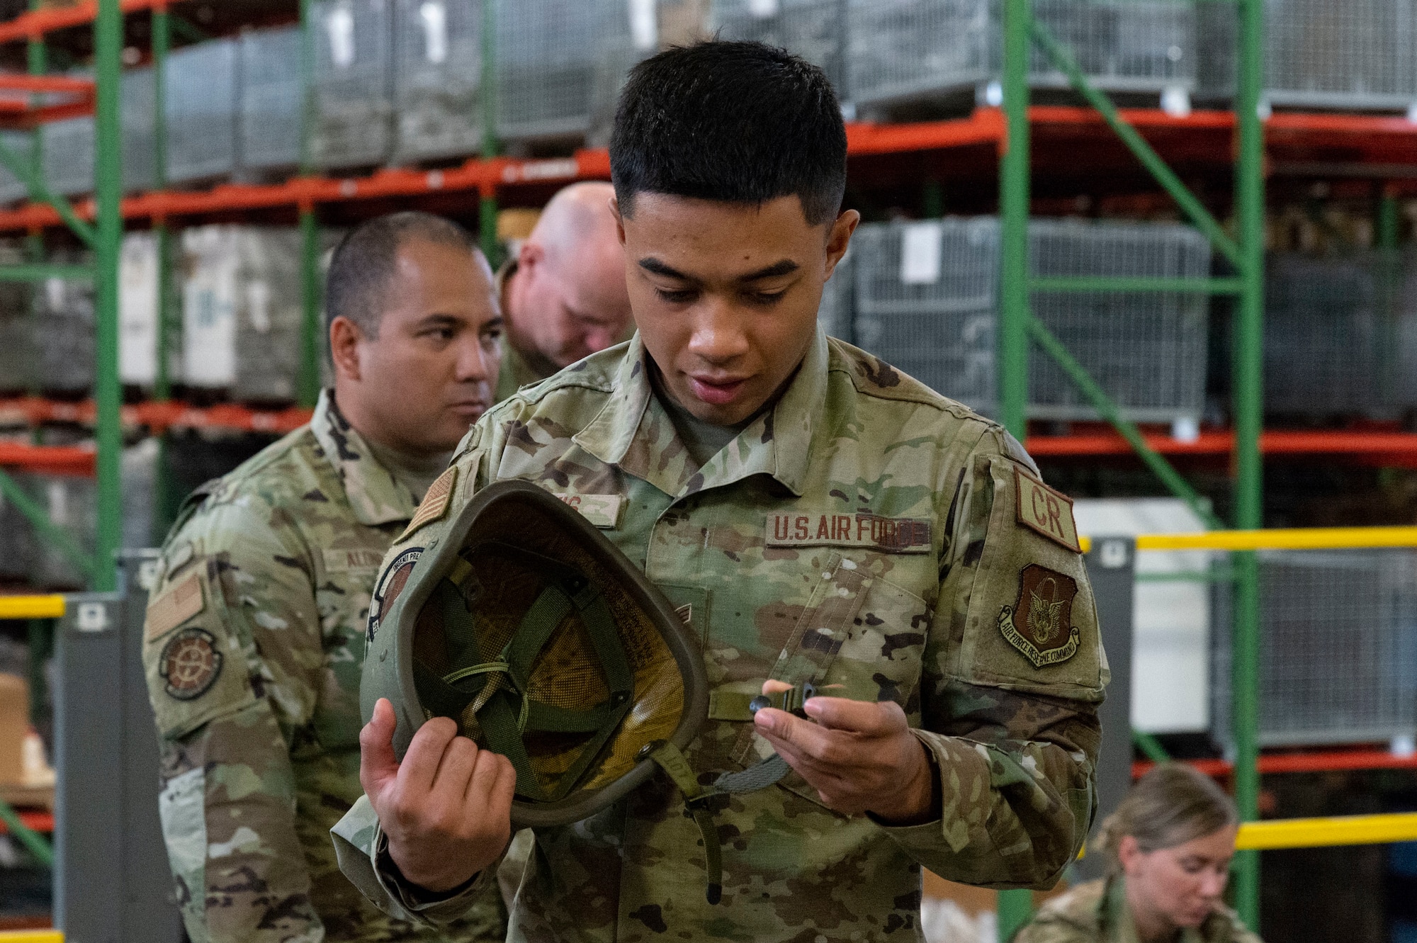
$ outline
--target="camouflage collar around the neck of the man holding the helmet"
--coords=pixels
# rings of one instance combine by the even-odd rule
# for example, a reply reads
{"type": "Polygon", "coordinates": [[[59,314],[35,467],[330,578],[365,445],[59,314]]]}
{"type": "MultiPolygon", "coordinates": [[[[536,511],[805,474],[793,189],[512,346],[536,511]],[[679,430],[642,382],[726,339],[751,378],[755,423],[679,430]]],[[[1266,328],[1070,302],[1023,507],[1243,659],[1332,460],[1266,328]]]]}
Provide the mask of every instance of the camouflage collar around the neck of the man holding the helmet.
{"type": "Polygon", "coordinates": [[[738,433],[723,452],[694,469],[674,423],[655,396],[645,345],[631,341],[615,375],[615,391],[574,440],[601,462],[649,481],[669,496],[721,487],[751,474],[771,474],[802,493],[812,432],[820,426],[826,394],[826,334],[819,327],[782,398],[738,433]]]}

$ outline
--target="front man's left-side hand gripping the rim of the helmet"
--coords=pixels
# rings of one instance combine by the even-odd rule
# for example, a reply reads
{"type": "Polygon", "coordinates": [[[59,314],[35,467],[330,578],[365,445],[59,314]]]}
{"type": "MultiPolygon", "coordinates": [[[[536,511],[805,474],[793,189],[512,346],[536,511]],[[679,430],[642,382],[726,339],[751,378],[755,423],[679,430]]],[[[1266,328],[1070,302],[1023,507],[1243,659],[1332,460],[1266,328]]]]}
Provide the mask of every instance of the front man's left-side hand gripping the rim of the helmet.
{"type": "Polygon", "coordinates": [[[394,708],[380,698],[360,731],[360,784],[404,878],[428,891],[452,891],[506,850],[516,770],[506,756],[458,736],[458,725],[445,716],[418,728],[400,763],[394,725],[394,708]]]}

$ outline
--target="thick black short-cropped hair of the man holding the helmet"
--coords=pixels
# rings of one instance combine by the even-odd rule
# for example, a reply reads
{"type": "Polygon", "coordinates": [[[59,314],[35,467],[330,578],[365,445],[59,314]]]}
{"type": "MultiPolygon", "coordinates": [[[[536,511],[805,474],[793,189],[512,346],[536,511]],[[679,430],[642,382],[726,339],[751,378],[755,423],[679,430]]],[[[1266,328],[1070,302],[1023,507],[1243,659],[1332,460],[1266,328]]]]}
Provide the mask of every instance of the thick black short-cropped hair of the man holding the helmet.
{"type": "Polygon", "coordinates": [[[796,195],[811,225],[846,193],[846,125],[826,74],[761,42],[666,50],[631,69],[611,135],[621,212],[638,193],[762,204],[796,195]]]}

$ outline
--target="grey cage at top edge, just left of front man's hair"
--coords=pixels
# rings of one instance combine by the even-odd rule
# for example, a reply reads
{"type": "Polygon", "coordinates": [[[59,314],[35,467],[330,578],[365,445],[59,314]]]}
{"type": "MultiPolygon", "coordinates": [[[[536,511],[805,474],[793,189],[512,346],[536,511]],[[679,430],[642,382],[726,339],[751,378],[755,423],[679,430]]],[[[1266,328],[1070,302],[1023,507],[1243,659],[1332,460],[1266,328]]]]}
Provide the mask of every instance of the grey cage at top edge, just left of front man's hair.
{"type": "Polygon", "coordinates": [[[655,50],[653,16],[646,30],[638,3],[493,1],[497,133],[536,142],[592,136],[601,125],[604,136],[625,72],[655,50]]]}

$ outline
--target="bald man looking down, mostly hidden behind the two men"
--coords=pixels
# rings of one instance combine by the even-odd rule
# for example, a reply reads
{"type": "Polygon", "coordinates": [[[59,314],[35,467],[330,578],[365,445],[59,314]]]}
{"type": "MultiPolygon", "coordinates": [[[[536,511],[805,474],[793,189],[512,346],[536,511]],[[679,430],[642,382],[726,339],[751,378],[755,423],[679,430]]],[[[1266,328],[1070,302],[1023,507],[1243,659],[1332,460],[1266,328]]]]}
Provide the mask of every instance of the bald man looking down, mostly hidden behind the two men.
{"type": "Polygon", "coordinates": [[[561,190],[497,285],[506,334],[496,399],[625,340],[629,293],[608,183],[561,190]]]}

